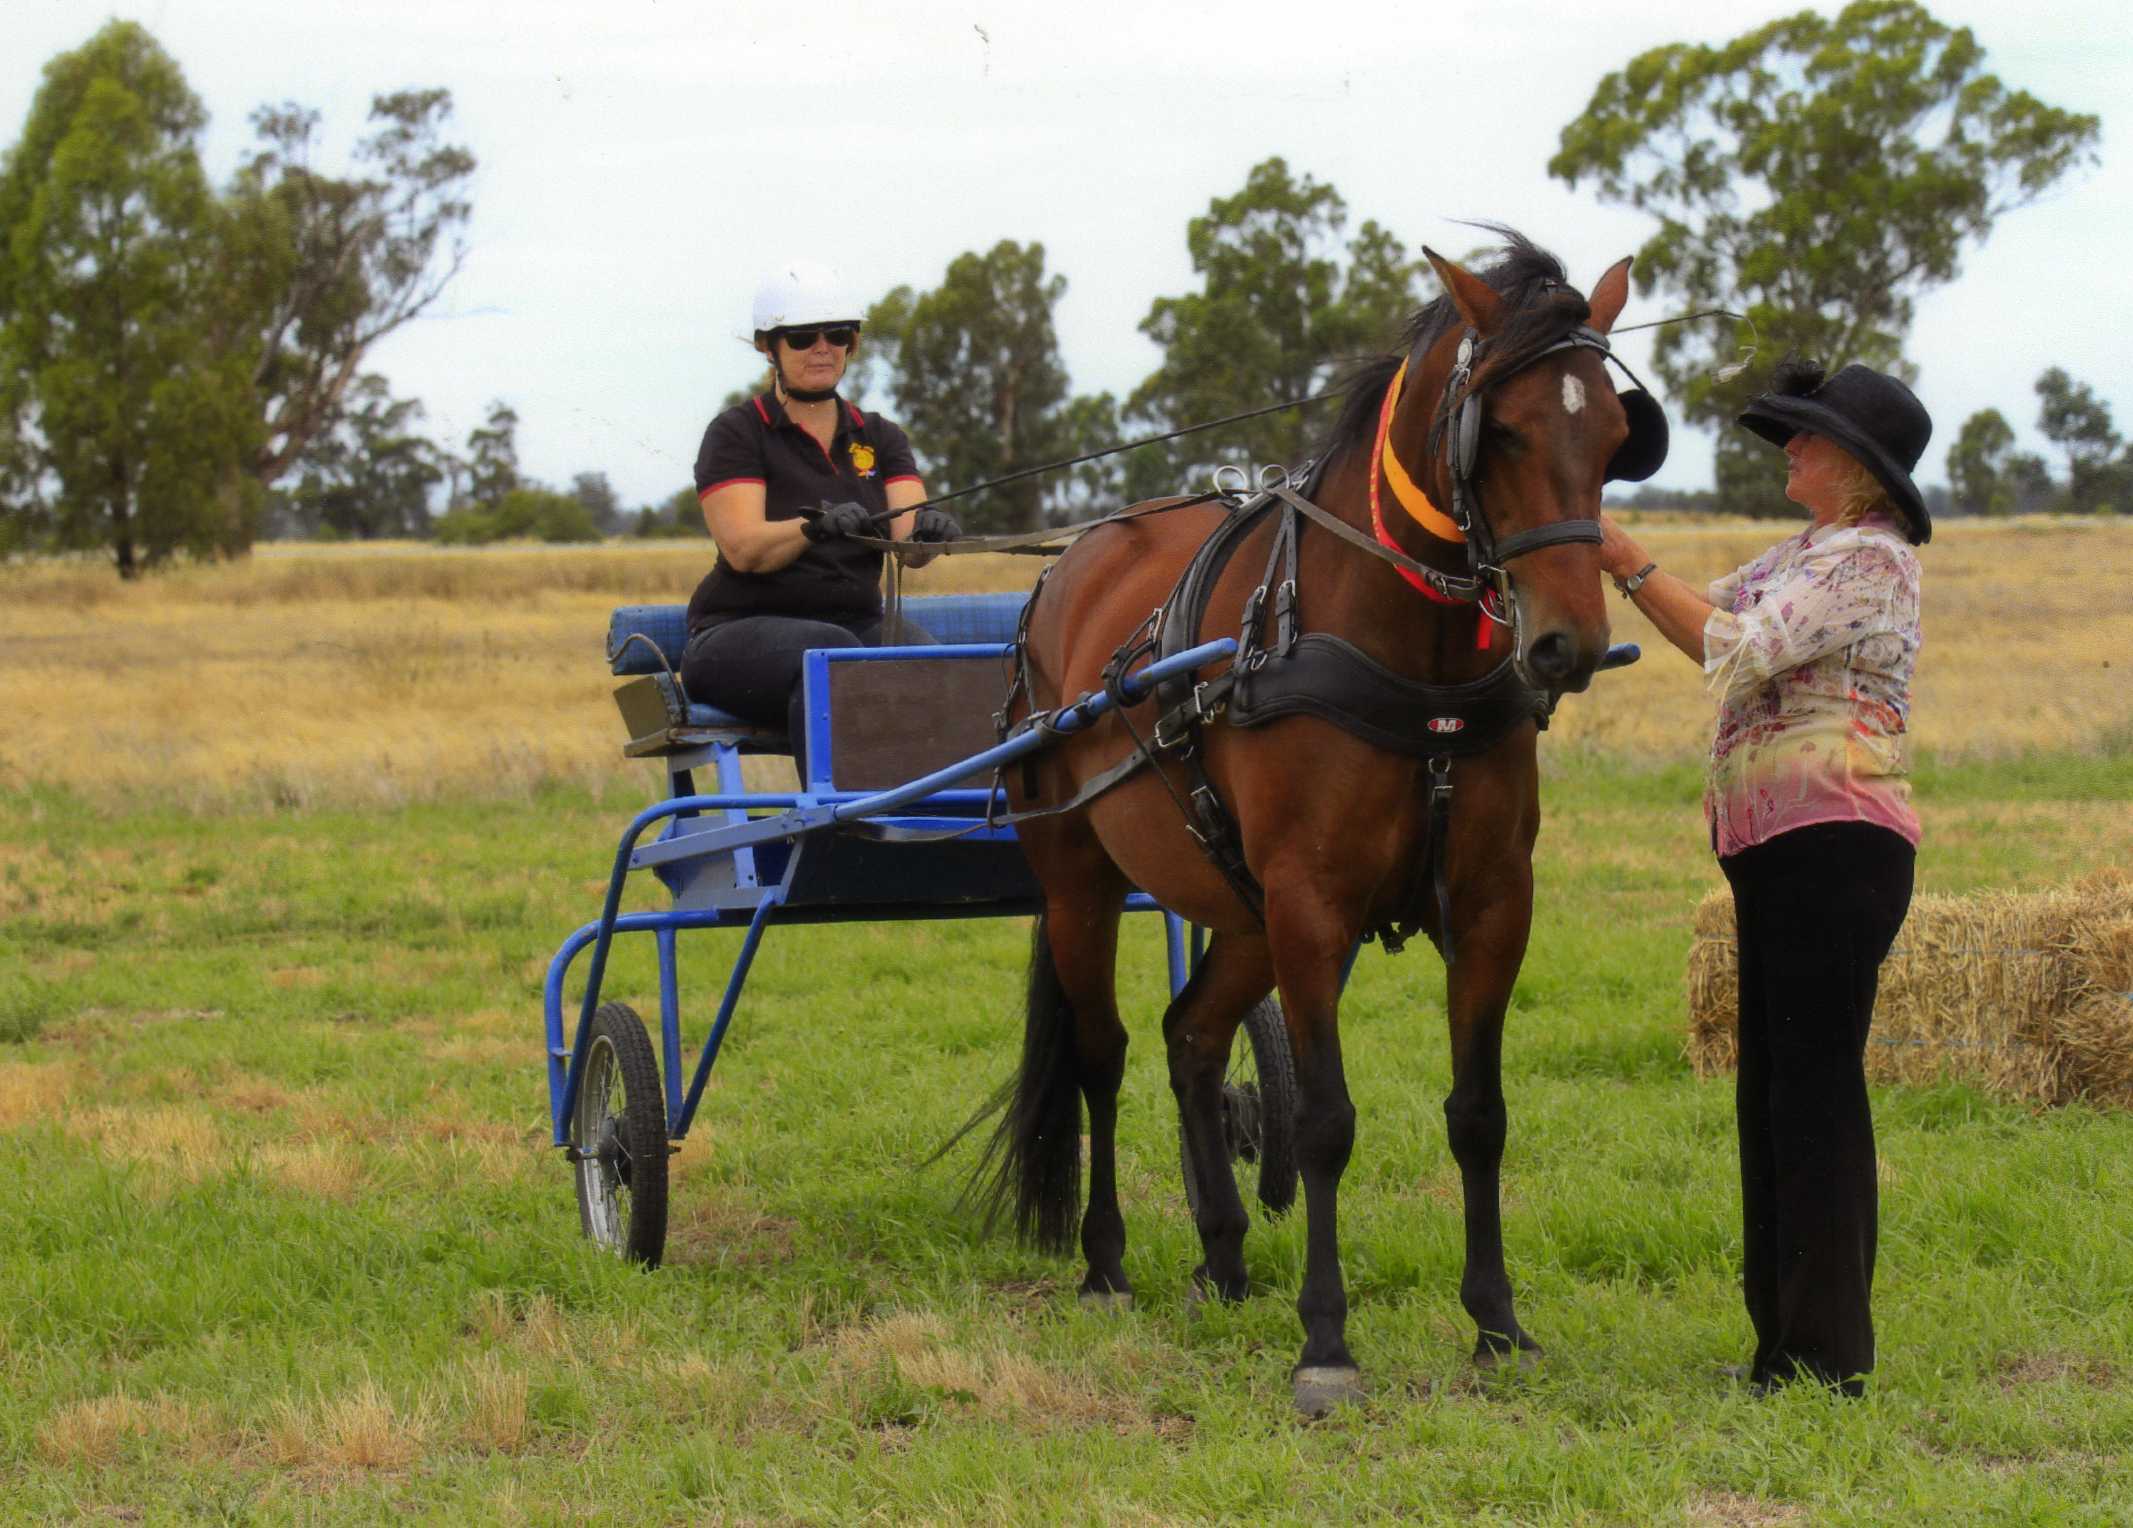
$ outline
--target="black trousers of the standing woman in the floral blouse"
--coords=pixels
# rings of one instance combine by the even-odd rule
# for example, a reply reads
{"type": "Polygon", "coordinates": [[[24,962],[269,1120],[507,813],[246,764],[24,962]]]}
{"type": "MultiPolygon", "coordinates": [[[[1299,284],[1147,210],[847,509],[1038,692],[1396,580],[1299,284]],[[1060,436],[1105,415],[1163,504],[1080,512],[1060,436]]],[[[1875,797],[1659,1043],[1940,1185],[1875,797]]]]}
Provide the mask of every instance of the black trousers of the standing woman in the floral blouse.
{"type": "Polygon", "coordinates": [[[1760,1385],[1809,1374],[1856,1396],[1873,1370],[1866,1029],[1913,858],[1888,828],[1832,822],[1719,860],[1741,948],[1734,1105],[1760,1385]]]}

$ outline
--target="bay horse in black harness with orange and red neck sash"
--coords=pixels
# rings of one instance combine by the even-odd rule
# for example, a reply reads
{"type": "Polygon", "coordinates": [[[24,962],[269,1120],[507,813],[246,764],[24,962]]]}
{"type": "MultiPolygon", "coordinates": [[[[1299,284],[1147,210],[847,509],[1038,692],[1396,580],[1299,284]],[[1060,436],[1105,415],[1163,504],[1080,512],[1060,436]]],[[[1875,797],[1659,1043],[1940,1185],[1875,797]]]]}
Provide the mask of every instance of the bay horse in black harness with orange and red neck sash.
{"type": "MultiPolygon", "coordinates": [[[[1267,619],[1265,585],[1284,583],[1284,559],[1288,587],[1273,602],[1288,634],[1308,627],[1303,647],[1359,651],[1365,662],[1342,657],[1342,672],[1378,685],[1365,687],[1346,723],[1318,715],[1316,696],[1303,694],[1327,687],[1318,681],[1303,685],[1295,706],[1263,706],[1267,715],[1246,726],[1237,726],[1237,691],[1226,719],[1205,709],[1190,717],[1201,726],[1184,747],[1175,738],[1154,747],[1150,734],[1175,726],[1175,713],[1165,721],[1160,702],[1143,700],[1028,755],[1007,779],[1017,813],[1064,811],[1020,828],[1045,911],[1032,941],[1020,1069],[1003,1088],[1007,1110],[973,1178],[979,1199],[1011,1216],[1026,1240],[1064,1251],[1079,1210],[1086,1099],[1081,1298],[1130,1302],[1116,1180],[1126,1061],[1113,994],[1122,901],[1137,886],[1205,926],[1205,956],[1162,1018],[1197,1189],[1203,1261],[1194,1295],[1248,1293],[1246,1212],[1226,1165],[1220,1086],[1239,1018],[1278,990],[1295,1052],[1308,1240],[1293,1387],[1310,1415],[1361,1396],[1335,1233],[1354,1142],[1337,1016],[1359,941],[1395,922],[1421,926],[1446,958],[1453,1088],[1444,1116],[1465,1197],[1459,1295],[1478,1327],[1474,1357],[1538,1353],[1512,1310],[1497,1201],[1504,1009],[1525,954],[1540,828],[1536,730],[1559,694],[1585,689],[1608,647],[1602,480],[1649,476],[1664,459],[1666,420],[1649,395],[1617,395],[1606,371],[1606,331],[1627,297],[1630,260],[1583,297],[1551,254],[1508,228],[1495,233],[1508,248],[1480,273],[1425,250],[1444,295],[1410,320],[1404,365],[1386,354],[1359,369],[1310,484],[1316,506],[1305,508],[1316,512],[1305,523],[1288,519],[1284,531],[1282,516],[1261,514],[1231,536],[1233,555],[1205,568],[1197,615],[1160,606],[1180,602],[1173,585],[1239,519],[1233,506],[1128,510],[1092,529],[1032,595],[1009,696],[1009,719],[1026,723],[1103,687],[1107,670],[1116,679],[1150,651],[1133,638],[1152,625],[1152,610],[1182,644],[1250,630],[1267,619]],[[1286,548],[1278,544],[1284,534],[1286,548]],[[1256,572],[1263,557],[1265,576],[1256,572]],[[1382,711],[1372,694],[1395,702],[1421,694],[1427,711],[1431,696],[1482,689],[1544,704],[1510,713],[1497,704],[1497,736],[1478,738],[1480,751],[1440,751],[1429,736],[1463,728],[1459,715],[1395,728],[1399,736],[1372,726],[1382,711]],[[1113,766],[1141,743],[1152,766],[1116,777],[1113,766]],[[1105,773],[1113,773],[1109,783],[1098,779],[1105,773]],[[1226,869],[1203,851],[1220,824],[1194,819],[1201,790],[1233,828],[1226,869]],[[1453,798],[1457,811],[1446,811],[1453,798]]],[[[1248,647],[1231,679],[1267,657],[1248,647]]],[[[1489,728],[1476,721],[1476,730],[1489,728]]]]}

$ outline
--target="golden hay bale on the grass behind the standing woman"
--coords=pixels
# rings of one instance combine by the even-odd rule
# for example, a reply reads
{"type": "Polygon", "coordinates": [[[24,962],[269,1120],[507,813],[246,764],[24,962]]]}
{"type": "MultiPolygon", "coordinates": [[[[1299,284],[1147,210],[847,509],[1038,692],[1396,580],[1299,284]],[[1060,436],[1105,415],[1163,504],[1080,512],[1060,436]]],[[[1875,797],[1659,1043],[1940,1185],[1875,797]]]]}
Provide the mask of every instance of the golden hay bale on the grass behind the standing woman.
{"type": "MultiPolygon", "coordinates": [[[[1741,1018],[1730,892],[1696,909],[1685,986],[1689,1065],[1730,1071],[1741,1018]]],[[[2133,1108],[2133,879],[2101,871],[2048,892],[1913,898],[1881,965],[1866,1076],[2133,1108]]]]}

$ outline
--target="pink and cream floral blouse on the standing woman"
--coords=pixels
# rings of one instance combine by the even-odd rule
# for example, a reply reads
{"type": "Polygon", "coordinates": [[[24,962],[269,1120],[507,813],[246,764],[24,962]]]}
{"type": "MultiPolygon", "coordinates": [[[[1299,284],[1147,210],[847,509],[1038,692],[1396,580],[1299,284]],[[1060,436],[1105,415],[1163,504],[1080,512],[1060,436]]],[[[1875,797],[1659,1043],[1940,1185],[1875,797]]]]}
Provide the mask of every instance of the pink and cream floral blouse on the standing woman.
{"type": "Polygon", "coordinates": [[[1918,555],[1896,521],[1792,536],[1713,583],[1709,600],[1711,845],[1738,854],[1817,822],[1873,822],[1915,845],[1903,732],[1918,555]]]}

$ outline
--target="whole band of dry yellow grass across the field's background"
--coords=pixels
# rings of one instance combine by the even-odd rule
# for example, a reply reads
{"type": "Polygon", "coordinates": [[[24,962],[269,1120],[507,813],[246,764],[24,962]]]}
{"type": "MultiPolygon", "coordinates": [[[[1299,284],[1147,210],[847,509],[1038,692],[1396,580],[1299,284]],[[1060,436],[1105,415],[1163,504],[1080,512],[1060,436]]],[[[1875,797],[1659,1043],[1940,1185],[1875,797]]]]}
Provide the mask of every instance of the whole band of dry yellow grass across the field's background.
{"type": "MultiPolygon", "coordinates": [[[[1638,527],[1689,578],[1783,525],[1638,527]]],[[[640,792],[602,662],[616,604],[685,600],[706,542],[262,548],[124,585],[96,561],[0,568],[0,790],[186,807],[397,805],[544,781],[640,792]]],[[[1945,758],[2133,732],[2133,525],[1954,523],[1924,553],[1915,743],[1945,758]],[[2116,668],[2114,668],[2116,664],[2116,668]]],[[[958,557],[909,591],[1026,589],[1028,557],[958,557]]],[[[1696,758],[1711,700],[1630,606],[1647,662],[1572,698],[1551,747],[1696,758]]]]}

